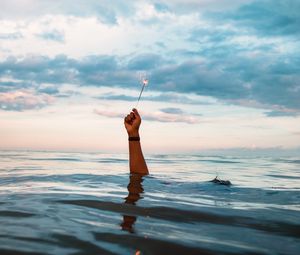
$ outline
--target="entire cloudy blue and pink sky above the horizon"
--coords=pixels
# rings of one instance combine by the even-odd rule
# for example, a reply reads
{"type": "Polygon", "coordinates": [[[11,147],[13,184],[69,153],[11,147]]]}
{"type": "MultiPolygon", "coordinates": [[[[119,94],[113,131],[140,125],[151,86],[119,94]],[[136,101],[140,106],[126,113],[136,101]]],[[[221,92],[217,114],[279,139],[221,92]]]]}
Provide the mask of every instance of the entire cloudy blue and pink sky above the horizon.
{"type": "Polygon", "coordinates": [[[299,0],[0,2],[0,149],[300,148],[299,0]]]}

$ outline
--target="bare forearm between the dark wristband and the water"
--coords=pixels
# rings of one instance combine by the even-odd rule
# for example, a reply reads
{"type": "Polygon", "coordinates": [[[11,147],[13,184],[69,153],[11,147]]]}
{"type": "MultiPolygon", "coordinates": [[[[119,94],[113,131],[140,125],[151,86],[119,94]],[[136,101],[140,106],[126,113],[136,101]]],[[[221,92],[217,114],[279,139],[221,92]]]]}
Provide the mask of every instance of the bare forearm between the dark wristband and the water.
{"type": "MultiPolygon", "coordinates": [[[[137,136],[138,134],[135,135],[135,137],[137,136]]],[[[129,168],[130,173],[143,175],[149,173],[140,141],[129,141],[129,168]]]]}

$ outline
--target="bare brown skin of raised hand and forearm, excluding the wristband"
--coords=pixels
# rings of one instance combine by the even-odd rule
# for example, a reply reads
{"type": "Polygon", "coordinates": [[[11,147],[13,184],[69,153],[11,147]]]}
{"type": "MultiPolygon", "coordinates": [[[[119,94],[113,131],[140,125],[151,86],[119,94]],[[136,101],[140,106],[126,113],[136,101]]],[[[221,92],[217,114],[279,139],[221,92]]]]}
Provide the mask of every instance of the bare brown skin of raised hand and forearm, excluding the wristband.
{"type": "MultiPolygon", "coordinates": [[[[124,125],[129,137],[140,137],[141,122],[142,119],[138,111],[132,109],[132,112],[124,118],[124,125]]],[[[130,173],[149,174],[140,141],[129,141],[129,169],[130,173]]]]}

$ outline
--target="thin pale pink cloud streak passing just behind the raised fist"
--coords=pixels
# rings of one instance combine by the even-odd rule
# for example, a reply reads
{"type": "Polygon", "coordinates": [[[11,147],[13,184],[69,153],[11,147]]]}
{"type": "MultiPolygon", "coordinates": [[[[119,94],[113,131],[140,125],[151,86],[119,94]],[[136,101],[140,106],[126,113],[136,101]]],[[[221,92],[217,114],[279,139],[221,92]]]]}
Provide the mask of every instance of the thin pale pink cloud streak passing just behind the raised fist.
{"type": "MultiPolygon", "coordinates": [[[[125,114],[122,113],[103,111],[99,109],[95,109],[94,113],[108,118],[124,118],[126,116],[125,114]]],[[[158,122],[182,122],[187,124],[196,124],[199,122],[199,120],[193,115],[165,113],[162,111],[157,111],[152,113],[143,112],[141,116],[143,120],[158,121],[158,122]]]]}

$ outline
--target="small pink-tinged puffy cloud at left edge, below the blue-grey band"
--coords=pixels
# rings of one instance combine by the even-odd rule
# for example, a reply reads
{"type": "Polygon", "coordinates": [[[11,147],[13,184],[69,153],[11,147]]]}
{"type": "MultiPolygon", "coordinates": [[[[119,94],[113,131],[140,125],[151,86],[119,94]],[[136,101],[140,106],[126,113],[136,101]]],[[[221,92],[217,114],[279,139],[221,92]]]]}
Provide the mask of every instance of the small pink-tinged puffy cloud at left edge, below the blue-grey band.
{"type": "Polygon", "coordinates": [[[35,94],[31,91],[14,91],[0,93],[0,109],[5,111],[24,111],[40,109],[54,101],[46,94],[35,94]]]}

